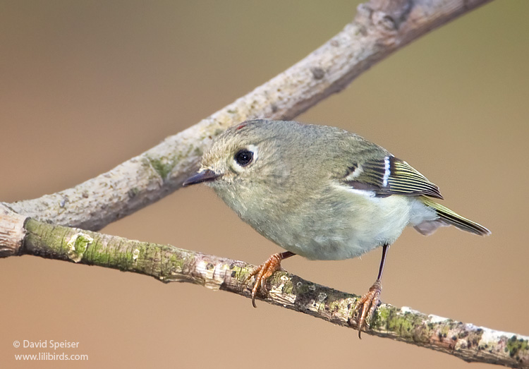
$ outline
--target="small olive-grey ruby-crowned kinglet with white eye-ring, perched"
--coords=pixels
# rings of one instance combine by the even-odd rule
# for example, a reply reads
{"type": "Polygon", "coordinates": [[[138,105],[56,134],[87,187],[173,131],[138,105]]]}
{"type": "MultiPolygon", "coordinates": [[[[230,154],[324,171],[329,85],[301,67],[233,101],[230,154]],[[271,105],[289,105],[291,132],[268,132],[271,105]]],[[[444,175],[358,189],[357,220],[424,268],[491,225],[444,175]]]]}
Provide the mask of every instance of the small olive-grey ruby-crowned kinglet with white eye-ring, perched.
{"type": "Polygon", "coordinates": [[[286,249],[256,274],[252,291],[301,255],[355,258],[383,246],[375,284],[355,306],[359,336],[379,303],[387,248],[411,225],[421,234],[439,226],[490,231],[439,205],[439,188],[408,163],[358,135],[296,121],[245,121],[226,130],[183,186],[205,182],[244,222],[286,249]]]}

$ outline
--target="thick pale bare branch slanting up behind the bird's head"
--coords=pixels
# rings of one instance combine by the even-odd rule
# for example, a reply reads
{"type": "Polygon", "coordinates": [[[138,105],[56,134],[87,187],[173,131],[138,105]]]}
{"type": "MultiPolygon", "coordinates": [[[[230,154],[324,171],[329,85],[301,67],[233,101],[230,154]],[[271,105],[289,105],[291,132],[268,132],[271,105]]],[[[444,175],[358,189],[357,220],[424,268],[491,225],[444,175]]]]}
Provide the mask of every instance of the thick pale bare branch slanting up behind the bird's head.
{"type": "Polygon", "coordinates": [[[181,187],[212,138],[252,118],[292,119],[430,30],[490,0],[371,0],[353,22],[284,73],[107,173],[8,204],[43,222],[101,229],[181,187]]]}

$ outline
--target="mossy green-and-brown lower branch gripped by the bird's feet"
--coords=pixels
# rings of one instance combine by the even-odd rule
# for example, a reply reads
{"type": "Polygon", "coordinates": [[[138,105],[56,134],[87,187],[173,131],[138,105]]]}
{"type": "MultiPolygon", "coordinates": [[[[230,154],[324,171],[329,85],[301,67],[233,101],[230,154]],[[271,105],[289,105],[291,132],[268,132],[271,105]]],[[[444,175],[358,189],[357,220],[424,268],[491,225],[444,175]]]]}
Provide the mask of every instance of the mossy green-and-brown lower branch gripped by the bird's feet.
{"type": "MultiPolygon", "coordinates": [[[[149,275],[162,282],[190,282],[250,297],[252,281],[248,281],[248,276],[255,266],[246,262],[33,219],[25,219],[23,229],[15,232],[9,225],[13,224],[9,221],[13,216],[18,217],[8,210],[0,212],[0,234],[4,226],[13,230],[7,237],[11,246],[0,243],[0,249],[11,250],[4,256],[37,255],[98,265],[149,275]]],[[[356,328],[353,307],[359,296],[284,271],[274,273],[268,284],[268,294],[260,296],[264,301],[336,325],[356,328]]],[[[382,303],[365,333],[442,351],[464,361],[529,368],[529,337],[427,315],[411,308],[382,303]]]]}

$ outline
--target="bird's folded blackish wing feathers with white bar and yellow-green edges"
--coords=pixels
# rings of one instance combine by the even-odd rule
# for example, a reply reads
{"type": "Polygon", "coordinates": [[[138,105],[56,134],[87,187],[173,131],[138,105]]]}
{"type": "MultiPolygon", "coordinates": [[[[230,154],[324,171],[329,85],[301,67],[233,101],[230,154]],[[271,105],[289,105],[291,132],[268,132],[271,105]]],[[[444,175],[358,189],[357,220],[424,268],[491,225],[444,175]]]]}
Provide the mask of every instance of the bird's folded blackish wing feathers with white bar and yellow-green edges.
{"type": "Polygon", "coordinates": [[[410,164],[393,155],[365,162],[353,162],[341,180],[346,186],[375,193],[375,196],[426,195],[442,199],[439,187],[413,169],[410,164]]]}

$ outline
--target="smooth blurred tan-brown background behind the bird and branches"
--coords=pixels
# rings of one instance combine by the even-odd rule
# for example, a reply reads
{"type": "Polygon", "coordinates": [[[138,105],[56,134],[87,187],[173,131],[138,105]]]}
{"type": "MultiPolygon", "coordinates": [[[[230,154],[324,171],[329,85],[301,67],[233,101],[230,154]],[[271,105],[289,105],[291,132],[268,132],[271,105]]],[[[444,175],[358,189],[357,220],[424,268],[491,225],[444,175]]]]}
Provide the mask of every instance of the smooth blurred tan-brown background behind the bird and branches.
{"type": "MultiPolygon", "coordinates": [[[[53,193],[140,154],[302,59],[356,4],[1,1],[0,200],[53,193]]],[[[492,230],[425,238],[408,229],[389,252],[383,301],[529,334],[528,11],[527,1],[494,1],[298,117],[386,147],[437,183],[446,205],[492,230]]],[[[255,264],[279,251],[205,186],[103,231],[255,264]]],[[[360,294],[379,254],[284,267],[360,294]]],[[[30,256],[0,265],[3,368],[467,367],[200,286],[30,256]],[[14,353],[50,351],[13,348],[23,339],[78,341],[65,351],[89,361],[17,363],[14,353]]]]}

